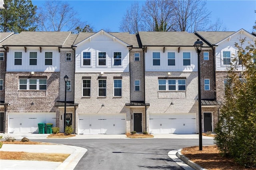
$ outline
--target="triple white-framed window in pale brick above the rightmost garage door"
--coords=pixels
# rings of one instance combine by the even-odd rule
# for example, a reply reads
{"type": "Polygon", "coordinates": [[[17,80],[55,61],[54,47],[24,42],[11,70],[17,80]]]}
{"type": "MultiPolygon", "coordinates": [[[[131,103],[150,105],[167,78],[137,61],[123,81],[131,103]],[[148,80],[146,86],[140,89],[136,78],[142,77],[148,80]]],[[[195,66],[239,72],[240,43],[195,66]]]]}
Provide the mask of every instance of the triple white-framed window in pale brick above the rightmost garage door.
{"type": "Polygon", "coordinates": [[[185,91],[186,79],[158,79],[158,91],[185,91]]]}

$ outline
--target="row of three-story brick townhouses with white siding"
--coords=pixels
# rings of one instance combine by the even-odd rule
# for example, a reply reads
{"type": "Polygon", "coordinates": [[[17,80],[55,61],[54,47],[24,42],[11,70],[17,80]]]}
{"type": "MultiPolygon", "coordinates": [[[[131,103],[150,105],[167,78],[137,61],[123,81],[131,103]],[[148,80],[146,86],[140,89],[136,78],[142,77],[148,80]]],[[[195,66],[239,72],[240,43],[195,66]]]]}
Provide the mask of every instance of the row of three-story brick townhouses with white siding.
{"type": "Polygon", "coordinates": [[[0,122],[1,132],[8,133],[37,133],[38,123],[52,123],[61,132],[71,125],[76,134],[198,133],[198,38],[204,42],[202,131],[214,132],[226,69],[237,57],[234,43],[255,41],[243,29],[0,37],[0,122]]]}

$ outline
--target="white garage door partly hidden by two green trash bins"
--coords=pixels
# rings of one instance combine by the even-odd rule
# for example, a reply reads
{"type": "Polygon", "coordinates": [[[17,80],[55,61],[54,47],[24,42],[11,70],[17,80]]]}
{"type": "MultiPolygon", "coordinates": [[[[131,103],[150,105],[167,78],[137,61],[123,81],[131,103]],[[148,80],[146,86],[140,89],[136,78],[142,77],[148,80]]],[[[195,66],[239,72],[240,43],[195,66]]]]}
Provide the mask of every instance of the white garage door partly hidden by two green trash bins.
{"type": "Polygon", "coordinates": [[[8,133],[38,133],[38,123],[56,126],[56,113],[9,113],[8,133]]]}

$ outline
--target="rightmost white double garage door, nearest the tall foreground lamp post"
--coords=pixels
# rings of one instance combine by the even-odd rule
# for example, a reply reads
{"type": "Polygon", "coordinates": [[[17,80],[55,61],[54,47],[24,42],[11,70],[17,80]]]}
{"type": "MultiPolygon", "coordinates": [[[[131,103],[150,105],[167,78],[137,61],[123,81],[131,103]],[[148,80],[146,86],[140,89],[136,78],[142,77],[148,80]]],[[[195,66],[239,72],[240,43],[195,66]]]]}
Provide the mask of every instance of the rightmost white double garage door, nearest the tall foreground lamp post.
{"type": "Polygon", "coordinates": [[[189,114],[150,114],[150,133],[191,134],[196,133],[196,113],[189,114]]]}

